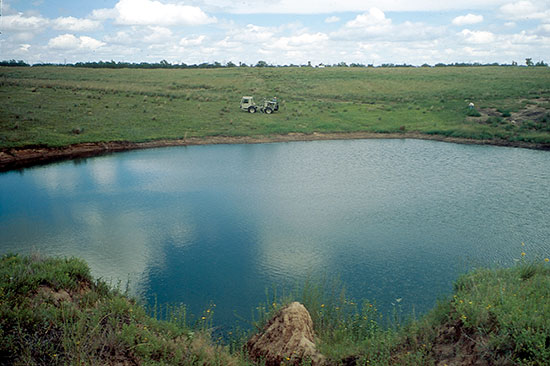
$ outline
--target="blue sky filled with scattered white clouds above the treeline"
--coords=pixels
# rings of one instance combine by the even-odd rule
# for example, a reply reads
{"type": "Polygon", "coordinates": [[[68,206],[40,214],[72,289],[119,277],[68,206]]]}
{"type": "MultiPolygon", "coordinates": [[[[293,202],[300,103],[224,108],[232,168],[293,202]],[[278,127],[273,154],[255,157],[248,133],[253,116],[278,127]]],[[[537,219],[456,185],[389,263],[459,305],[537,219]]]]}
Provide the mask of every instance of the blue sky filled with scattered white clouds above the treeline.
{"type": "Polygon", "coordinates": [[[550,0],[2,0],[0,60],[550,61],[550,0]]]}

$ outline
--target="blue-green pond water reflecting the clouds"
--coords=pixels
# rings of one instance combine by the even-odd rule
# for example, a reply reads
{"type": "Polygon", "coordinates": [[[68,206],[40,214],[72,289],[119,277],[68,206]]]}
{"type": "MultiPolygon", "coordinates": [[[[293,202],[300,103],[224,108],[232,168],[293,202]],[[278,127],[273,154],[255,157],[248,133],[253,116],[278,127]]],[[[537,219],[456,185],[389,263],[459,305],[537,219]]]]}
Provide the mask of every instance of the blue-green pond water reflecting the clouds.
{"type": "Polygon", "coordinates": [[[148,301],[245,318],[338,277],[417,313],[476,266],[550,255],[550,153],[419,140],[163,148],[0,174],[0,253],[78,256],[148,301]],[[525,247],[521,246],[525,242],[525,247]]]}

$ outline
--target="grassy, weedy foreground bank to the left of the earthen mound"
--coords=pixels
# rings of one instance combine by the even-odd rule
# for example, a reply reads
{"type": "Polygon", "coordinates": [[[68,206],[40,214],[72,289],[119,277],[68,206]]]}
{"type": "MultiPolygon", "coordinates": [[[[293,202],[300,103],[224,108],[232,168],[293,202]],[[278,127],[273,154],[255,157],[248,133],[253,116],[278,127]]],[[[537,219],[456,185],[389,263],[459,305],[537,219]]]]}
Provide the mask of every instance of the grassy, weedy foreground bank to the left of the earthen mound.
{"type": "Polygon", "coordinates": [[[0,262],[2,365],[245,364],[206,329],[172,315],[151,318],[94,281],[78,259],[5,255],[0,262]]]}

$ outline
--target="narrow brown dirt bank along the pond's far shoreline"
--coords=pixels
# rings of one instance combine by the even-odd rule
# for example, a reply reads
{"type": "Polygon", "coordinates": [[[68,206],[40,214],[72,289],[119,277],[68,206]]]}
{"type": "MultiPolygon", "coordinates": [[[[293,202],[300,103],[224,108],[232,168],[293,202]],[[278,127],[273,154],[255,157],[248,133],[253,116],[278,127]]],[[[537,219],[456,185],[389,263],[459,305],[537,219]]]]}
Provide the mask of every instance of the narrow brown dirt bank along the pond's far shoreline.
{"type": "Polygon", "coordinates": [[[528,149],[550,150],[550,144],[537,144],[523,141],[507,140],[474,140],[421,133],[290,133],[271,136],[211,136],[204,138],[187,138],[179,140],[155,140],[149,142],[89,142],[64,147],[29,146],[22,148],[0,149],[0,172],[27,168],[34,165],[48,164],[55,161],[83,159],[119,151],[150,149],[167,146],[192,146],[213,144],[261,144],[272,142],[316,141],[316,140],[351,140],[351,139],[421,139],[436,140],[460,144],[494,145],[521,147],[528,149]]]}

